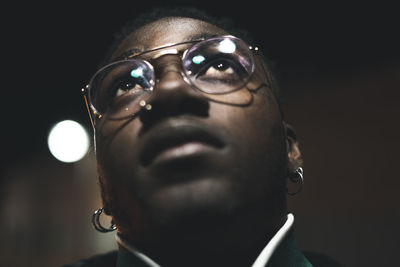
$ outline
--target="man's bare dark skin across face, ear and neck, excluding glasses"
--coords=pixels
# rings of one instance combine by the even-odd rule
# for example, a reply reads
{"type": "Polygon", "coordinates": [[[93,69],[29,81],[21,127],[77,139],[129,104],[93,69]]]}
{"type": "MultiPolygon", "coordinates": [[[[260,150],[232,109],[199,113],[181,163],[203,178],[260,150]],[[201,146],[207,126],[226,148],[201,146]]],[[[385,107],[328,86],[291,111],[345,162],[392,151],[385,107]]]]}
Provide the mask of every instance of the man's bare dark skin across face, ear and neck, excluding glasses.
{"type": "MultiPolygon", "coordinates": [[[[165,18],[131,33],[111,61],[198,34],[228,33],[195,19],[165,18]]],[[[270,84],[255,60],[248,88],[270,84]]],[[[105,113],[96,121],[104,207],[119,234],[162,266],[250,266],[286,221],[286,177],[301,165],[271,88],[207,97],[183,80],[178,55],[151,63],[159,79],[152,110],[121,120],[105,113]],[[180,137],[188,141],[154,147],[180,137]]]]}

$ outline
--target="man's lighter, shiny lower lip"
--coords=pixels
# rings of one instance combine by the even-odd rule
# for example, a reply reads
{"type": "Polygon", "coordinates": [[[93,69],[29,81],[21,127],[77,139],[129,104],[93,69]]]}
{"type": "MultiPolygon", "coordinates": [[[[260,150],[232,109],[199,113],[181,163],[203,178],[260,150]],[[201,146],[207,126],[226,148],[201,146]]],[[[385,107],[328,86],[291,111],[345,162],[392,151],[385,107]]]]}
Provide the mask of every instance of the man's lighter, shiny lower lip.
{"type": "Polygon", "coordinates": [[[162,151],[153,159],[153,164],[179,159],[187,159],[210,152],[214,149],[215,148],[209,144],[204,144],[200,142],[189,142],[162,151]]]}

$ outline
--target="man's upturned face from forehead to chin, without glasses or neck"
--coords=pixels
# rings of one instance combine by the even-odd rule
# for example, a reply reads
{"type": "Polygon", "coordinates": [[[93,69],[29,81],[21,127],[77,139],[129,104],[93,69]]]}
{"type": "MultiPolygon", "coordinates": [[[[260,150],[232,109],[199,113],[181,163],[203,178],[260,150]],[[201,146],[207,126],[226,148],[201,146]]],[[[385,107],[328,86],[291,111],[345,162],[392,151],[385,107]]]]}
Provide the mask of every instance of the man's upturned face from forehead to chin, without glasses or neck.
{"type": "MultiPolygon", "coordinates": [[[[228,33],[199,20],[162,19],[131,33],[113,58],[199,34],[228,33]]],[[[247,87],[258,90],[207,97],[184,81],[179,55],[146,58],[157,79],[152,109],[134,119],[106,112],[97,120],[104,202],[122,234],[146,239],[162,229],[224,225],[252,209],[276,216],[273,205],[284,196],[284,129],[271,88],[260,87],[268,79],[254,57],[247,87]]]]}

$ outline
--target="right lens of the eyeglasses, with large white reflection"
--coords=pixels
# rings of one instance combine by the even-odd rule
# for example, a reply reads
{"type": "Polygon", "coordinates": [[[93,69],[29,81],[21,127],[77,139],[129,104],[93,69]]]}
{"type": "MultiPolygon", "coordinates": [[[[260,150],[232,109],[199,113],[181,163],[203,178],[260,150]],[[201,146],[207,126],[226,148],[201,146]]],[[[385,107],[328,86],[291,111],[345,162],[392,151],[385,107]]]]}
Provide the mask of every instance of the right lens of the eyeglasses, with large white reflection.
{"type": "Polygon", "coordinates": [[[249,47],[233,36],[197,43],[187,50],[182,63],[188,81],[210,94],[224,94],[243,87],[254,70],[249,47]]]}

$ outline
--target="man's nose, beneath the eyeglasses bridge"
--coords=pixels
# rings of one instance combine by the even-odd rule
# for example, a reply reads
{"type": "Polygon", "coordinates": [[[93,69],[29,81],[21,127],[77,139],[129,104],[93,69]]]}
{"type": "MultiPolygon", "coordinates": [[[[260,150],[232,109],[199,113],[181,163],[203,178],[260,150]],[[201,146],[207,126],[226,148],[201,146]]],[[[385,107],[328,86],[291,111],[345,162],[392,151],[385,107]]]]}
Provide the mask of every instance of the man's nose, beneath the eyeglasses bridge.
{"type": "Polygon", "coordinates": [[[184,80],[179,56],[162,56],[153,62],[153,66],[157,82],[148,101],[152,108],[139,115],[145,126],[173,116],[208,116],[209,102],[184,80]]]}

